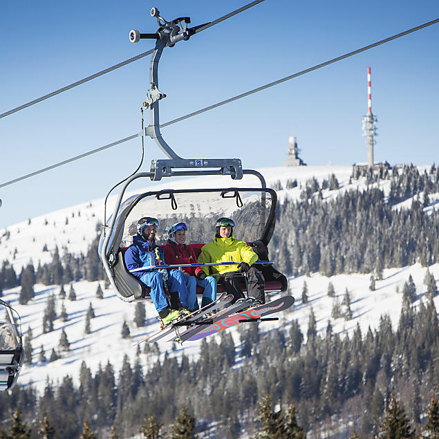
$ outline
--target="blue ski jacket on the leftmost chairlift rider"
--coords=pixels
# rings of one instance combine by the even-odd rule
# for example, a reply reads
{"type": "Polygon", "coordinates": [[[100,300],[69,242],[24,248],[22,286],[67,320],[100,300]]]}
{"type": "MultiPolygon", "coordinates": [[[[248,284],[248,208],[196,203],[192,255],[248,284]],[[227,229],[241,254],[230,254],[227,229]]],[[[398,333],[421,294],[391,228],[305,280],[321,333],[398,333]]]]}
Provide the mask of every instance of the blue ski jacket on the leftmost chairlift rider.
{"type": "MultiPolygon", "coordinates": [[[[133,236],[133,243],[127,248],[124,254],[124,260],[128,270],[148,267],[149,265],[165,264],[165,256],[162,248],[159,247],[155,241],[147,241],[140,235],[133,236]]],[[[151,271],[153,271],[153,269],[150,268],[149,270],[140,270],[131,274],[140,279],[145,273],[151,271]]]]}

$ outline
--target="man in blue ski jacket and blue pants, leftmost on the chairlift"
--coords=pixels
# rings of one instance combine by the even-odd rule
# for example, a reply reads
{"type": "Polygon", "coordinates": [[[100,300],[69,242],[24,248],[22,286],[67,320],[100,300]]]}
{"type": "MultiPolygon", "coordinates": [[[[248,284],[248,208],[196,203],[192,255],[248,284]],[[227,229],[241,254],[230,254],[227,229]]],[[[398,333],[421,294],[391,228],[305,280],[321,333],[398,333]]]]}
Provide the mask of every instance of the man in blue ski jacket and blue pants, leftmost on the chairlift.
{"type": "MultiPolygon", "coordinates": [[[[127,248],[124,254],[125,264],[128,270],[149,267],[151,265],[165,265],[163,250],[154,241],[156,229],[159,225],[157,218],[144,216],[137,223],[137,234],[133,236],[133,243],[127,248]]],[[[156,306],[160,319],[164,324],[178,318],[181,313],[189,314],[187,310],[187,286],[185,275],[180,270],[146,268],[132,272],[142,283],[151,288],[149,295],[156,306]],[[169,292],[178,292],[178,298],[183,306],[183,310],[171,310],[165,294],[166,282],[169,292]]]]}

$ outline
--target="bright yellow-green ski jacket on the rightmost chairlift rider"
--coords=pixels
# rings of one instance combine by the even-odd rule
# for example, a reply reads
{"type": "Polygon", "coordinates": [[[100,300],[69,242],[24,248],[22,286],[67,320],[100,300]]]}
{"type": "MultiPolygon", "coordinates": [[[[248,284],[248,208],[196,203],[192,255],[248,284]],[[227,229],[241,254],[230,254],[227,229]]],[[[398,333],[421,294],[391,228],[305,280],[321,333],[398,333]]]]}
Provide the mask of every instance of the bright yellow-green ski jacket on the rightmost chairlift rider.
{"type": "MultiPolygon", "coordinates": [[[[252,250],[252,247],[244,241],[235,239],[233,233],[228,238],[214,238],[214,241],[203,245],[200,256],[198,256],[198,262],[200,263],[246,262],[251,266],[257,260],[258,255],[252,250]]],[[[238,270],[236,265],[213,265],[211,267],[201,267],[201,269],[207,275],[238,270]]]]}

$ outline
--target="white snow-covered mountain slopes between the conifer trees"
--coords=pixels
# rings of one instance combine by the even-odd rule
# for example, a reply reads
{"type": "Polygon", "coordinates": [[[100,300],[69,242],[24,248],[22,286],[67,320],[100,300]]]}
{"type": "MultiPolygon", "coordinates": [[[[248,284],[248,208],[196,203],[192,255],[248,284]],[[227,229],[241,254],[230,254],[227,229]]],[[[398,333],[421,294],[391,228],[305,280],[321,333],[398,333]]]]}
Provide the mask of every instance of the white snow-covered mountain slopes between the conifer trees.
{"type": "MultiPolygon", "coordinates": [[[[429,167],[420,167],[420,171],[429,167]]],[[[306,181],[312,177],[317,178],[319,183],[328,179],[330,174],[335,174],[339,189],[322,191],[324,200],[330,202],[338,194],[349,189],[365,189],[366,179],[359,178],[350,182],[352,173],[351,167],[327,166],[327,167],[281,167],[260,169],[265,176],[269,187],[275,187],[278,190],[279,203],[285,200],[286,196],[292,199],[299,198],[306,181]],[[297,180],[297,187],[285,189],[288,180],[297,180]]],[[[181,180],[172,180],[172,187],[176,188],[195,188],[195,187],[228,187],[228,186],[256,186],[254,176],[245,176],[242,182],[224,177],[203,177],[185,178],[181,180]]],[[[384,194],[389,193],[391,180],[379,180],[375,185],[384,190],[384,194]]],[[[160,182],[154,186],[154,189],[164,189],[169,187],[169,180],[160,182]]],[[[148,187],[150,189],[150,186],[148,187]]],[[[139,193],[141,191],[132,192],[139,193]]],[[[127,196],[131,195],[127,194],[127,196]]],[[[439,200],[439,194],[429,194],[431,205],[424,208],[424,212],[429,212],[435,207],[439,200]]],[[[111,198],[110,204],[114,203],[115,197],[111,198]]],[[[0,258],[1,261],[8,259],[13,265],[15,272],[19,274],[21,268],[32,261],[35,268],[39,263],[44,264],[52,260],[55,247],[58,247],[59,254],[62,256],[63,249],[73,254],[86,254],[88,246],[97,236],[97,225],[103,221],[103,203],[104,200],[92,200],[91,202],[82,203],[67,207],[57,212],[51,212],[36,218],[30,218],[8,227],[0,232],[0,258]],[[47,251],[43,251],[46,250],[47,251]]],[[[405,200],[395,208],[406,208],[410,206],[411,201],[405,200]]],[[[111,212],[111,208],[107,208],[111,212]]],[[[108,214],[107,214],[108,216],[108,214]]],[[[402,286],[407,281],[409,275],[413,277],[418,294],[419,301],[424,297],[427,286],[424,285],[424,275],[426,268],[420,264],[411,265],[404,268],[393,268],[384,270],[383,279],[376,281],[375,291],[369,289],[370,274],[339,274],[333,277],[324,277],[320,274],[312,274],[310,277],[295,277],[289,279],[289,288],[292,295],[296,298],[294,309],[287,310],[281,314],[279,322],[267,322],[261,326],[261,330],[282,324],[283,321],[297,319],[306,334],[308,318],[310,312],[315,313],[317,320],[317,330],[324,331],[328,320],[333,325],[335,333],[349,333],[357,324],[362,328],[364,333],[368,326],[377,328],[380,322],[380,316],[388,314],[391,317],[393,325],[398,324],[400,308],[402,303],[402,286]],[[308,303],[302,303],[301,291],[303,283],[306,281],[308,286],[308,303]],[[328,283],[333,283],[336,297],[339,302],[342,299],[347,288],[351,295],[351,310],[353,319],[345,321],[342,318],[333,319],[331,310],[333,308],[333,298],[328,297],[328,283]],[[398,292],[399,291],[399,292],[398,292]]],[[[439,279],[439,264],[436,263],[429,268],[429,271],[435,279],[439,279]]],[[[98,282],[78,281],[73,282],[73,288],[76,292],[77,299],[69,301],[64,299],[64,306],[68,314],[68,321],[63,323],[61,319],[55,320],[55,328],[50,333],[43,333],[42,321],[44,310],[50,295],[55,295],[57,315],[62,308],[62,299],[59,299],[59,286],[35,285],[35,297],[27,305],[18,303],[20,287],[3,290],[3,299],[17,309],[21,315],[21,324],[24,335],[28,328],[32,329],[32,364],[25,365],[20,384],[34,382],[37,389],[44,389],[46,377],[56,382],[65,375],[69,374],[77,382],[78,371],[82,361],[91,368],[97,370],[99,364],[106,364],[110,361],[116,369],[122,364],[125,354],[133,360],[136,357],[137,348],[133,345],[141,339],[147,337],[158,330],[156,321],[156,311],[151,302],[147,302],[146,326],[137,328],[133,322],[134,308],[133,303],[124,303],[115,297],[112,290],[104,290],[104,298],[98,299],[95,292],[98,282]],[[91,333],[85,333],[85,319],[88,308],[93,306],[95,318],[91,319],[91,333]],[[126,321],[130,329],[130,337],[122,339],[122,324],[126,321]],[[59,338],[62,330],[65,330],[70,342],[70,350],[62,352],[61,358],[54,362],[39,362],[41,346],[44,347],[45,356],[48,359],[50,353],[55,348],[58,350],[59,338]]],[[[104,283],[101,282],[102,288],[104,283]]],[[[68,295],[69,286],[65,286],[68,295]]],[[[274,297],[275,298],[275,297],[274,297]]],[[[436,308],[439,307],[439,298],[436,297],[436,308]]],[[[231,330],[234,335],[236,344],[239,343],[239,336],[236,328],[231,330]]],[[[186,355],[197,355],[200,342],[187,342],[183,346],[174,346],[165,341],[160,342],[162,353],[169,351],[171,355],[180,355],[182,351],[186,355]]],[[[140,346],[143,348],[143,345],[140,346]]],[[[142,352],[142,349],[141,349],[142,352]]],[[[155,355],[140,355],[140,362],[144,368],[149,367],[155,361],[155,355]]]]}

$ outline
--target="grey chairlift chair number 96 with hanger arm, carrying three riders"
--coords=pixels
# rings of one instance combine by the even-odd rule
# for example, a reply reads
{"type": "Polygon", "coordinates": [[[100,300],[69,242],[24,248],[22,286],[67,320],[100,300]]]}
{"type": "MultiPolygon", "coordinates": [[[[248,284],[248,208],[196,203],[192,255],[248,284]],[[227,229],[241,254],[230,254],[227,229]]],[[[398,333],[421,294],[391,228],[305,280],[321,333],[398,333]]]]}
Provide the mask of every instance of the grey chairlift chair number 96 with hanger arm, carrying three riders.
{"type": "MultiPolygon", "coordinates": [[[[109,224],[104,224],[98,250],[113,290],[122,301],[127,302],[145,298],[149,292],[149,288],[146,288],[127,270],[123,257],[124,250],[131,243],[130,237],[136,234],[136,222],[142,216],[159,218],[158,232],[167,230],[172,223],[180,221],[188,223],[189,245],[192,245],[196,253],[199,253],[200,248],[206,242],[212,241],[214,237],[216,218],[227,214],[236,220],[237,227],[241,227],[236,238],[247,241],[259,255],[260,261],[268,261],[267,247],[276,222],[276,192],[266,187],[265,179],[258,171],[242,169],[239,158],[181,158],[162,138],[158,105],[166,95],[158,89],[158,62],[162,50],[167,46],[173,47],[178,41],[189,39],[191,29],[186,26],[190,22],[188,17],[166,21],[160,17],[157,8],[152,8],[151,16],[156,17],[159,24],[155,34],[141,34],[138,30],[131,30],[129,34],[131,42],[147,38],[156,39],[156,48],[149,68],[149,93],[147,93],[147,100],[142,103],[142,109],[150,109],[151,124],[145,129],[142,127],[139,136],[153,138],[168,158],[152,160],[149,172],[140,172],[124,180],[113,214],[109,218],[109,224]],[[260,187],[236,187],[236,183],[242,180],[244,175],[258,178],[260,187]],[[134,180],[148,178],[160,181],[162,178],[174,176],[199,177],[200,187],[203,187],[202,178],[205,176],[224,176],[225,178],[228,176],[234,180],[234,187],[151,190],[131,196],[122,202],[128,185],[134,180]],[[194,200],[192,205],[198,206],[198,215],[191,211],[190,199],[194,200]],[[212,207],[210,211],[206,211],[203,203],[213,203],[216,208],[212,207]],[[253,221],[253,227],[248,222],[250,220],[253,221]],[[208,221],[212,227],[209,231],[207,231],[208,221]],[[204,230],[203,233],[200,232],[200,228],[204,230]],[[197,233],[198,236],[196,236],[197,233]]],[[[165,242],[166,239],[162,239],[162,243],[165,242]]],[[[160,236],[158,236],[158,243],[160,244],[160,236]]],[[[286,277],[272,265],[258,265],[258,267],[265,277],[265,290],[283,292],[288,289],[286,277]]]]}

